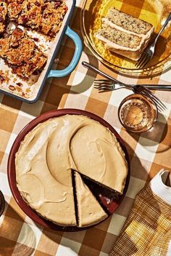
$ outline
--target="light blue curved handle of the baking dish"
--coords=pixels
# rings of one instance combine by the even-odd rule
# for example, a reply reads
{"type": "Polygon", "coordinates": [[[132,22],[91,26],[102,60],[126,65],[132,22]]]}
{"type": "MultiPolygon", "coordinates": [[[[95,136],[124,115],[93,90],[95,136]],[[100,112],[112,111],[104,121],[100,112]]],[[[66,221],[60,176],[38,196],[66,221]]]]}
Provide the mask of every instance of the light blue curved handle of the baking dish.
{"type": "Polygon", "coordinates": [[[75,31],[72,31],[69,26],[67,26],[67,29],[65,31],[65,35],[69,36],[72,41],[75,43],[75,53],[74,56],[72,57],[72,60],[70,62],[70,65],[67,66],[67,68],[64,68],[60,71],[53,71],[51,70],[49,72],[48,78],[50,77],[63,77],[67,76],[70,74],[78,64],[78,61],[80,60],[80,55],[82,53],[82,42],[80,40],[80,37],[78,36],[75,31]]]}

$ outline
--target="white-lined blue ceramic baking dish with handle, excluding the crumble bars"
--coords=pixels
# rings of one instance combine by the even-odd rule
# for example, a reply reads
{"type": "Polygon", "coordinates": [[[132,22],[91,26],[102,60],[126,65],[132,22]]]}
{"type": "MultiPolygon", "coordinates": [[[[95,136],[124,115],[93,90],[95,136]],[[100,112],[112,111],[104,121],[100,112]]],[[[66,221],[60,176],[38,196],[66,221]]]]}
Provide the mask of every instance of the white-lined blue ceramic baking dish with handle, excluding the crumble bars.
{"type": "MultiPolygon", "coordinates": [[[[60,28],[59,33],[52,41],[48,41],[45,38],[45,36],[41,35],[40,33],[37,33],[36,31],[29,30],[27,32],[28,36],[32,37],[33,39],[38,39],[35,41],[35,44],[37,44],[38,47],[40,47],[41,50],[48,56],[43,71],[41,73],[34,74],[33,76],[31,76],[29,78],[29,81],[23,81],[17,75],[11,72],[10,68],[7,65],[5,65],[4,60],[0,59],[0,75],[1,73],[7,73],[8,76],[8,81],[1,82],[0,92],[3,92],[4,94],[10,95],[27,103],[35,103],[41,94],[41,90],[43,89],[46,79],[49,79],[51,77],[67,76],[74,70],[75,66],[78,64],[78,61],[80,60],[80,55],[82,52],[82,43],[78,34],[75,33],[75,31],[72,31],[72,29],[68,26],[75,8],[76,0],[65,0],[65,2],[67,4],[68,10],[66,15],[64,16],[62,27],[60,28]],[[67,68],[64,68],[63,70],[59,71],[51,70],[51,65],[54,63],[54,58],[57,55],[57,51],[60,45],[62,44],[62,38],[64,34],[69,36],[70,39],[74,41],[75,53],[67,68]],[[17,86],[17,84],[22,84],[21,89],[17,86]],[[10,85],[12,85],[11,88],[13,88],[13,90],[10,89],[10,85]],[[17,88],[18,90],[14,88],[17,88]]],[[[14,27],[14,23],[9,23],[7,29],[12,30],[14,29],[14,27]]]]}

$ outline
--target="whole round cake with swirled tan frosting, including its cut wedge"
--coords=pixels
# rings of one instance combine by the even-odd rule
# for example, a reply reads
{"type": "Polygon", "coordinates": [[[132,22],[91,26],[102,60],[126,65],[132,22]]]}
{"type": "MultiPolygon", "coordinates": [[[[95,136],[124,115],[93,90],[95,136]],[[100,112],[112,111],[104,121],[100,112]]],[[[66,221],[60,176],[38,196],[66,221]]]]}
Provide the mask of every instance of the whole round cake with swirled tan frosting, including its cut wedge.
{"type": "MultiPolygon", "coordinates": [[[[128,174],[125,155],[112,132],[99,122],[79,115],[61,116],[38,124],[22,141],[15,167],[17,187],[23,199],[38,214],[58,225],[77,225],[72,169],[119,193],[128,174]]],[[[75,189],[79,196],[79,226],[98,223],[107,216],[78,175],[75,189]],[[87,214],[92,215],[86,217],[83,211],[88,201],[96,209],[87,209],[87,214]]]]}

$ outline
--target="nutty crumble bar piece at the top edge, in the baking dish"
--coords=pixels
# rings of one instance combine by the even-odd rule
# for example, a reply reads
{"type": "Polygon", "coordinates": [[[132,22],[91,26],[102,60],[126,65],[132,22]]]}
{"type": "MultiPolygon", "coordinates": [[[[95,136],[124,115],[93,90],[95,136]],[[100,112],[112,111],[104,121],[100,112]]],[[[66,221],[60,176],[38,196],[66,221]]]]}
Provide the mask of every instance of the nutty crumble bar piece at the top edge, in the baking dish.
{"type": "Polygon", "coordinates": [[[51,37],[56,36],[67,12],[63,1],[8,0],[8,3],[9,20],[51,37]]]}

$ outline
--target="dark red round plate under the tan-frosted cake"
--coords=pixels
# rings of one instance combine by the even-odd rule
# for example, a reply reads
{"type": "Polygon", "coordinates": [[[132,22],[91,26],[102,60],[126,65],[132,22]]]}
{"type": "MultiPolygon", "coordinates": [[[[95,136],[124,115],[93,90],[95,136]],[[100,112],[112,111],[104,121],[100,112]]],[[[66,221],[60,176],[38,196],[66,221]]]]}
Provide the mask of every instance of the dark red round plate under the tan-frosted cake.
{"type": "Polygon", "coordinates": [[[24,129],[22,129],[22,131],[17,136],[16,140],[12,145],[12,149],[9,153],[7,172],[8,172],[9,186],[11,188],[12,195],[14,196],[15,201],[17,201],[17,204],[22,209],[22,211],[25,212],[25,214],[28,215],[28,217],[30,217],[34,222],[38,223],[39,225],[42,225],[44,228],[52,228],[57,231],[81,231],[87,228],[91,228],[95,225],[91,225],[85,228],[78,228],[75,226],[57,225],[55,223],[52,223],[49,220],[44,219],[43,217],[38,215],[33,209],[31,209],[28,206],[28,204],[25,203],[25,201],[22,199],[22,196],[20,195],[20,192],[18,191],[17,183],[16,183],[16,172],[15,172],[15,162],[14,162],[15,154],[17,153],[20,147],[20,143],[24,139],[25,135],[27,135],[28,132],[30,132],[34,127],[36,127],[38,124],[42,123],[43,121],[46,121],[54,117],[68,115],[68,114],[88,116],[93,120],[99,121],[100,124],[102,124],[104,127],[107,127],[117,137],[117,140],[120,142],[122,150],[125,153],[125,159],[128,162],[128,176],[126,178],[125,188],[122,195],[120,195],[117,192],[114,193],[113,191],[109,191],[107,188],[104,188],[101,185],[95,185],[90,180],[84,180],[85,183],[88,185],[88,187],[91,189],[91,191],[94,193],[96,198],[101,203],[101,206],[108,213],[108,216],[112,215],[112,213],[121,204],[122,199],[124,198],[125,193],[128,189],[128,184],[130,180],[130,161],[128,158],[128,151],[125,147],[125,143],[123,142],[120,135],[115,131],[115,129],[109,123],[107,123],[107,121],[104,121],[104,119],[101,119],[101,117],[96,116],[93,113],[82,111],[79,109],[66,108],[62,110],[55,110],[55,111],[49,111],[49,112],[43,113],[41,116],[38,116],[36,117],[36,119],[33,119],[32,121],[30,121],[30,123],[26,125],[24,129]]]}

